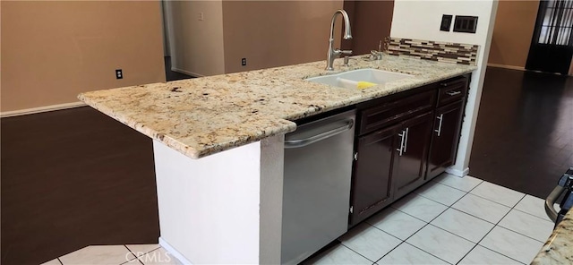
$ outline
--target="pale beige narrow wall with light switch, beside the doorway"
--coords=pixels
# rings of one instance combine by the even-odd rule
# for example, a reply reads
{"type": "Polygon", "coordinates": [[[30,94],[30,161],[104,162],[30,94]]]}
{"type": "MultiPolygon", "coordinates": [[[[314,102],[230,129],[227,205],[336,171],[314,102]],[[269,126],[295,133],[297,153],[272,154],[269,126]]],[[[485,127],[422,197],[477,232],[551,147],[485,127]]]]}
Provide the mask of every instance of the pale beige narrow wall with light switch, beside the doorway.
{"type": "Polygon", "coordinates": [[[169,32],[172,68],[193,76],[225,73],[223,51],[223,3],[167,1],[171,13],[169,32]],[[203,20],[199,20],[203,13],[203,20]]]}

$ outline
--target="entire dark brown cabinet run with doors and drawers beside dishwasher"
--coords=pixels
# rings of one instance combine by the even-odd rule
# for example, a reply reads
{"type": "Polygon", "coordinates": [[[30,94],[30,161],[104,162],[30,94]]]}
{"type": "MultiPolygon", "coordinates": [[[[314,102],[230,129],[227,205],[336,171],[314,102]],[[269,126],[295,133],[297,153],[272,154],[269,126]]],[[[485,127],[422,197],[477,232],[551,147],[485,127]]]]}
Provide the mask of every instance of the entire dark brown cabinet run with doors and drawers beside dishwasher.
{"type": "Polygon", "coordinates": [[[454,163],[467,84],[464,76],[357,106],[351,227],[454,163]]]}

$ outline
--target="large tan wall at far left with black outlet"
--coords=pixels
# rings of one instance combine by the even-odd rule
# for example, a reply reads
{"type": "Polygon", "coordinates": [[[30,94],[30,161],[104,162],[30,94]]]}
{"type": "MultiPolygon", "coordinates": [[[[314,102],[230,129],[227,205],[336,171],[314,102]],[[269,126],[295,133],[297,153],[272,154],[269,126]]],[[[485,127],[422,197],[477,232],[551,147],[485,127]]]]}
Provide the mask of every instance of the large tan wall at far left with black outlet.
{"type": "Polygon", "coordinates": [[[165,81],[158,1],[1,5],[3,112],[165,81]],[[118,68],[123,80],[115,79],[118,68]]]}

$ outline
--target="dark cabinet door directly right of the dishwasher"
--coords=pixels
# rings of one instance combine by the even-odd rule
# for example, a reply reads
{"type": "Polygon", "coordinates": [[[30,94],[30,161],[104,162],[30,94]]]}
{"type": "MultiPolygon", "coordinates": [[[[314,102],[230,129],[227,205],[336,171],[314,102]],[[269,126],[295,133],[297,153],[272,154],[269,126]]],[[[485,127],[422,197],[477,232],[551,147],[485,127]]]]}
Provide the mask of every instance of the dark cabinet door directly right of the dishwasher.
{"type": "Polygon", "coordinates": [[[392,126],[358,138],[350,225],[368,218],[392,201],[390,175],[399,128],[399,125],[392,126]]]}

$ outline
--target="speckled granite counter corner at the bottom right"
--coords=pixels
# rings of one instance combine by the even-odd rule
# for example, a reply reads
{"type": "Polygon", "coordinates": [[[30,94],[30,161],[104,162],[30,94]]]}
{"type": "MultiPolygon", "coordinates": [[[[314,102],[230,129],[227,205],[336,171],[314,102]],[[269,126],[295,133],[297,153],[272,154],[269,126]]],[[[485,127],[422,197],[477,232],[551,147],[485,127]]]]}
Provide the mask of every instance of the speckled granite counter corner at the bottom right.
{"type": "Polygon", "coordinates": [[[532,264],[573,264],[573,210],[569,210],[532,264]]]}

